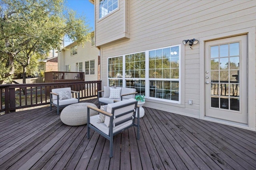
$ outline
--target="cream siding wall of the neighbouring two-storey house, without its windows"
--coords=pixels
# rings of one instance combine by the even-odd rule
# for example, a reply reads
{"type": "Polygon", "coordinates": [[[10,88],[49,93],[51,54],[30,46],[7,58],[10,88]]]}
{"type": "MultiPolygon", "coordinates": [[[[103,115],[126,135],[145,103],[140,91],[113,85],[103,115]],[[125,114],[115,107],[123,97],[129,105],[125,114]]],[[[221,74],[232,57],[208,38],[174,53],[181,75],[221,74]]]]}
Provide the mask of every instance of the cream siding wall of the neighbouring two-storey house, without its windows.
{"type": "Polygon", "coordinates": [[[65,47],[61,53],[58,53],[58,71],[65,71],[65,66],[70,65],[70,71],[76,72],[76,63],[82,62],[82,70],[85,72],[85,61],[94,60],[94,74],[85,75],[85,81],[98,80],[98,55],[99,50],[92,45],[91,42],[86,42],[84,46],[78,45],[77,54],[72,55],[70,49],[77,45],[76,42],[65,47]]]}

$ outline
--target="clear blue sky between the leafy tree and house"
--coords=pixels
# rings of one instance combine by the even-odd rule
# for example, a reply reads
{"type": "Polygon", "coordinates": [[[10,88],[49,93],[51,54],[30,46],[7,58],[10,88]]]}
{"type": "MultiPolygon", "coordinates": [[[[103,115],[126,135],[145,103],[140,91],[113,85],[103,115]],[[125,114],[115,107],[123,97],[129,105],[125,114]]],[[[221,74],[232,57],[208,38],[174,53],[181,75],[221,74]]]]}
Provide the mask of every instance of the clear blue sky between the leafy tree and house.
{"type": "MultiPolygon", "coordinates": [[[[87,23],[94,31],[94,5],[89,0],[66,0],[65,5],[67,8],[76,11],[76,14],[86,17],[87,23]]],[[[65,42],[65,46],[72,42],[65,42]]]]}

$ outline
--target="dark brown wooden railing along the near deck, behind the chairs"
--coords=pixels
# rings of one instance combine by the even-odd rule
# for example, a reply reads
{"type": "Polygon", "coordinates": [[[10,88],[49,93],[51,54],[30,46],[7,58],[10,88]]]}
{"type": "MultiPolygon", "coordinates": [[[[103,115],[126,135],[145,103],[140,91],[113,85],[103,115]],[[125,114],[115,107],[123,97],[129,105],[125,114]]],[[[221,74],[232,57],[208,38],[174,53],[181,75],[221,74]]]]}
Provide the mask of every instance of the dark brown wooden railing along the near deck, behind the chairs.
{"type": "Polygon", "coordinates": [[[79,91],[82,100],[97,97],[101,90],[101,81],[0,85],[0,113],[50,104],[51,90],[63,87],[79,91]]]}

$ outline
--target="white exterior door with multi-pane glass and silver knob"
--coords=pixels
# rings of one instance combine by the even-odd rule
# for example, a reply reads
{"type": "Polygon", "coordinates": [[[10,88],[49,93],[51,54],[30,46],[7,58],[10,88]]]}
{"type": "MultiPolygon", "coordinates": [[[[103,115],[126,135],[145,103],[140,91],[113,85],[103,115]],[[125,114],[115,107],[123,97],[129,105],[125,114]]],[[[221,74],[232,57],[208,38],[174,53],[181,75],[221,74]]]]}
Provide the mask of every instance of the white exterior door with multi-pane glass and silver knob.
{"type": "Polygon", "coordinates": [[[205,43],[205,115],[248,123],[247,35],[205,43]]]}

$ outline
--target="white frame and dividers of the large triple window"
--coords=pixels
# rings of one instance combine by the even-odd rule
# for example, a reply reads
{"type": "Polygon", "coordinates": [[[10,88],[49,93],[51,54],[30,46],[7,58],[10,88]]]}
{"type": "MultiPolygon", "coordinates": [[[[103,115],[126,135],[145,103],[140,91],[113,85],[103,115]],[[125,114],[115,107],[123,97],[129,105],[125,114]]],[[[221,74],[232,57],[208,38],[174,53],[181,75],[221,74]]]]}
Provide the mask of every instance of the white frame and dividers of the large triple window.
{"type": "MultiPolygon", "coordinates": [[[[168,46],[168,47],[161,47],[161,48],[158,48],[158,49],[150,49],[150,50],[146,50],[146,51],[141,51],[141,52],[136,52],[136,53],[130,53],[130,54],[124,54],[124,55],[118,55],[118,56],[115,56],[115,57],[108,57],[107,58],[107,63],[108,63],[108,71],[107,71],[107,77],[108,77],[108,86],[112,86],[112,85],[115,85],[115,86],[121,86],[121,87],[126,87],[126,84],[127,84],[127,80],[136,80],[136,81],[139,81],[139,82],[143,82],[145,81],[145,96],[146,98],[148,99],[152,99],[152,100],[160,100],[160,101],[165,101],[165,102],[171,102],[171,103],[176,103],[176,104],[181,104],[181,94],[183,94],[183,92],[181,92],[181,81],[182,81],[182,75],[181,74],[181,70],[182,68],[184,67],[181,63],[181,60],[182,60],[182,56],[181,56],[181,45],[178,44],[178,45],[171,45],[171,46],[168,46]],[[158,49],[166,49],[166,48],[172,48],[172,47],[178,47],[178,78],[149,78],[149,51],[154,51],[154,50],[158,50],[158,49]],[[123,75],[126,75],[126,59],[125,57],[127,55],[132,55],[132,54],[138,54],[138,53],[145,53],[145,78],[127,78],[126,76],[123,76],[123,75]],[[117,74],[112,74],[112,76],[110,77],[110,66],[109,66],[109,59],[113,59],[113,58],[116,58],[116,57],[122,57],[122,70],[115,70],[115,72],[122,72],[122,75],[120,75],[120,77],[113,77],[113,75],[117,75],[117,74]],[[169,100],[169,99],[163,99],[163,98],[156,98],[156,97],[150,97],[150,80],[154,80],[154,81],[169,81],[170,83],[172,82],[177,82],[178,81],[178,90],[176,92],[178,92],[178,100],[169,100]],[[113,84],[114,82],[114,84],[113,84]]],[[[120,59],[119,59],[120,61],[120,59]]],[[[170,57],[170,61],[171,61],[171,57],[170,57]]],[[[171,64],[171,62],[170,62],[171,64]]],[[[162,68],[163,70],[164,68],[162,68]]],[[[170,66],[170,69],[171,69],[171,66],[170,66]]],[[[113,71],[113,70],[112,70],[113,71]]],[[[171,87],[170,87],[171,88],[171,87]]],[[[138,90],[138,89],[137,89],[138,90]]],[[[164,88],[162,89],[164,90],[164,88]]],[[[170,89],[171,91],[171,89],[170,89]]],[[[172,91],[171,91],[172,92],[172,91]]],[[[171,94],[170,94],[171,95],[171,94]]]]}

